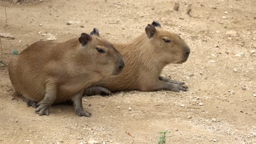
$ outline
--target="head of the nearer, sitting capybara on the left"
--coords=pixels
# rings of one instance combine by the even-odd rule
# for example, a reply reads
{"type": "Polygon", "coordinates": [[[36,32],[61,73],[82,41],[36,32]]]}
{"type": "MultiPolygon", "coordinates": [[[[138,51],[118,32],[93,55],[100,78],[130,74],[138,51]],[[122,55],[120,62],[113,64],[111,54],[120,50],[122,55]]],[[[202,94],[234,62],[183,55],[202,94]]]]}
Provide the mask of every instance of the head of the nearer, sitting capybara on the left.
{"type": "Polygon", "coordinates": [[[89,34],[82,33],[79,38],[79,53],[91,65],[91,69],[103,76],[118,75],[124,68],[124,60],[115,47],[100,37],[98,29],[89,34]]]}

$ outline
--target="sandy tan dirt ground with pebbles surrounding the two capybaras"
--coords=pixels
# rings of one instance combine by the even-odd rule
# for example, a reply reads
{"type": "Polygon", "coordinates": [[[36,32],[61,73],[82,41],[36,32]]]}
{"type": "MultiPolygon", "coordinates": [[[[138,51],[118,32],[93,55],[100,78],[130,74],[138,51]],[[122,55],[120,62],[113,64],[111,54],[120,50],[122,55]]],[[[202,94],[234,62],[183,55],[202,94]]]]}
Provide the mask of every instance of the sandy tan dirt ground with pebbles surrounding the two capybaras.
{"type": "Polygon", "coordinates": [[[120,43],[144,33],[153,20],[180,34],[191,49],[187,62],[170,64],[162,73],[184,81],[188,92],[84,97],[89,118],[78,117],[68,105],[52,106],[49,116],[36,115],[13,97],[2,65],[0,143],[157,143],[164,130],[171,132],[166,143],[256,143],[256,1],[191,0],[181,1],[179,11],[172,8],[171,0],[0,1],[0,32],[15,37],[1,38],[7,62],[12,49],[46,40],[44,33],[60,42],[97,27],[101,37],[120,43]],[[191,16],[184,14],[189,3],[191,16]]]}

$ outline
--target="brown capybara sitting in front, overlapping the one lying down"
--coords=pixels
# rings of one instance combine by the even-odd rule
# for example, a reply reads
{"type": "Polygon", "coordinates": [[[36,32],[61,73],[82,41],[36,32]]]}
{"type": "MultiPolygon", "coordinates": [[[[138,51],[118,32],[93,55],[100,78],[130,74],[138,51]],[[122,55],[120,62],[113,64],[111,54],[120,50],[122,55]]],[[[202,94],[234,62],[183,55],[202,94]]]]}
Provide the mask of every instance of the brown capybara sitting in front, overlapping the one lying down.
{"type": "Polygon", "coordinates": [[[120,53],[102,39],[94,28],[64,43],[38,41],[9,62],[15,91],[39,102],[38,115],[49,115],[51,104],[71,99],[75,113],[90,117],[82,105],[83,91],[105,76],[118,75],[124,68],[120,53]]]}

